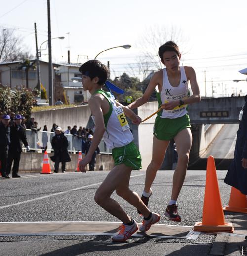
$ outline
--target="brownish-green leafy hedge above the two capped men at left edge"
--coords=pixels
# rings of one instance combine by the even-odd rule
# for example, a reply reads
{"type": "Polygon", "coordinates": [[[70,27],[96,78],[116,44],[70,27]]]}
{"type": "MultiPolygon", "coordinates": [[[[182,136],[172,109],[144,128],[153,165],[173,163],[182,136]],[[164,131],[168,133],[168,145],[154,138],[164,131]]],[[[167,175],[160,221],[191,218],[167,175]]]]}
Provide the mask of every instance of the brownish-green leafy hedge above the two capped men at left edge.
{"type": "Polygon", "coordinates": [[[32,106],[34,104],[31,90],[22,88],[12,90],[9,87],[0,87],[0,114],[14,112],[21,114],[25,118],[30,118],[32,106]]]}

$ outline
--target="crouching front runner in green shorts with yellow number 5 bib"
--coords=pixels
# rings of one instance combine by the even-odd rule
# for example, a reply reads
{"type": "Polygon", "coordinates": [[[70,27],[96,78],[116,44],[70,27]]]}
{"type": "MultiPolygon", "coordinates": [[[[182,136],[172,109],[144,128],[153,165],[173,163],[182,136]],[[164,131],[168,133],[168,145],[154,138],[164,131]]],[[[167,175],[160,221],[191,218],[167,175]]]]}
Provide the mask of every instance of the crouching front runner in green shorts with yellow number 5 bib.
{"type": "Polygon", "coordinates": [[[111,198],[114,191],[142,213],[144,219],[139,227],[141,232],[146,232],[151,225],[160,220],[160,215],[152,213],[138,194],[129,189],[131,171],[141,168],[141,156],[133,142],[126,116],[134,124],[139,124],[141,118],[129,108],[115,102],[111,94],[102,90],[109,76],[109,70],[105,65],[97,60],[89,60],[79,71],[82,73],[83,89],[92,95],[88,105],[95,123],[91,146],[86,157],[80,161],[79,168],[80,171],[86,172],[85,166],[91,161],[94,151],[104,137],[107,146],[112,149],[115,167],[97,189],[94,200],[123,222],[119,233],[112,237],[113,241],[123,242],[138,230],[138,225],[119,203],[111,198]]]}

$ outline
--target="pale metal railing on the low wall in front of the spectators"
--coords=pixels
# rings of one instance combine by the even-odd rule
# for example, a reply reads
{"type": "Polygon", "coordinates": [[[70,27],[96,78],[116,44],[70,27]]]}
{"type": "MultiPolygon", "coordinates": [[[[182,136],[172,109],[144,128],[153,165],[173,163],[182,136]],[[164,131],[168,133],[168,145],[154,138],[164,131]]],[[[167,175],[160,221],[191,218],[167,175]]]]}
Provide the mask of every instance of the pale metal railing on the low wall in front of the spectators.
{"type": "MultiPolygon", "coordinates": [[[[30,150],[35,152],[42,152],[43,148],[47,146],[47,152],[50,153],[53,151],[51,147],[52,137],[55,135],[54,132],[46,132],[46,131],[32,131],[26,129],[26,137],[27,142],[30,147],[30,150]]],[[[77,136],[71,134],[64,134],[69,142],[68,151],[71,153],[77,153],[82,150],[82,138],[78,138],[77,136]]],[[[23,145],[23,150],[26,148],[23,145]]],[[[112,154],[112,150],[106,147],[104,140],[102,139],[99,144],[100,154],[112,154]]]]}

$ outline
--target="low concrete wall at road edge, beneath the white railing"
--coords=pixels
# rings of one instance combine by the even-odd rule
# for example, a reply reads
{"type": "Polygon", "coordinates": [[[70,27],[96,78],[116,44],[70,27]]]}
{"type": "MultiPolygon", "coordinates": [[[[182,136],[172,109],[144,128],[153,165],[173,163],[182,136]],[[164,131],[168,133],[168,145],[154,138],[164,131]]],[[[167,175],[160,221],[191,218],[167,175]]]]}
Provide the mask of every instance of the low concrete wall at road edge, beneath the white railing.
{"type": "MultiPolygon", "coordinates": [[[[48,154],[49,157],[53,154],[48,154]]],[[[41,153],[22,153],[19,172],[20,173],[40,173],[43,166],[44,154],[41,153]]],[[[70,154],[71,162],[66,163],[67,171],[75,171],[77,168],[78,154],[70,154]]],[[[52,172],[54,171],[54,163],[49,159],[52,172]]],[[[97,155],[95,170],[111,170],[114,166],[111,155],[97,155]]],[[[61,164],[59,166],[61,171],[61,164]]]]}

